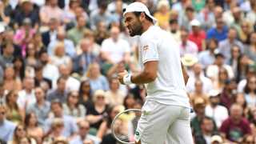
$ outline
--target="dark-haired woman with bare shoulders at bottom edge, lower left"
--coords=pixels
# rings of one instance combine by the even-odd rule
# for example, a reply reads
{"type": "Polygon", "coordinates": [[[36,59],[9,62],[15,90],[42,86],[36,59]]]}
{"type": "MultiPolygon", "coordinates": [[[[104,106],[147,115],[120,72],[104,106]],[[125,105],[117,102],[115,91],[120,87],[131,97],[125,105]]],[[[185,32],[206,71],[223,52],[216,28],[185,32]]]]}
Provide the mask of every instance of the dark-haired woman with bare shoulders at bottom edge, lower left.
{"type": "Polygon", "coordinates": [[[27,136],[34,138],[37,143],[42,143],[43,130],[38,125],[38,118],[33,112],[26,114],[25,127],[27,136]]]}

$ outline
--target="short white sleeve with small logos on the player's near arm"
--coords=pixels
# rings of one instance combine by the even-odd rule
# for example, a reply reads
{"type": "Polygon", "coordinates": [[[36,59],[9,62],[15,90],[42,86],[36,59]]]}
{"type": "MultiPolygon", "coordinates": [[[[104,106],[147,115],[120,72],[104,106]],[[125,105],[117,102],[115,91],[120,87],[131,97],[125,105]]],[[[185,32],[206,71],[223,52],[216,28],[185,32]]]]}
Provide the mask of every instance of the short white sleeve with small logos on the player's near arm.
{"type": "Polygon", "coordinates": [[[158,43],[152,38],[146,38],[142,40],[141,45],[142,63],[149,61],[158,61],[158,43]]]}

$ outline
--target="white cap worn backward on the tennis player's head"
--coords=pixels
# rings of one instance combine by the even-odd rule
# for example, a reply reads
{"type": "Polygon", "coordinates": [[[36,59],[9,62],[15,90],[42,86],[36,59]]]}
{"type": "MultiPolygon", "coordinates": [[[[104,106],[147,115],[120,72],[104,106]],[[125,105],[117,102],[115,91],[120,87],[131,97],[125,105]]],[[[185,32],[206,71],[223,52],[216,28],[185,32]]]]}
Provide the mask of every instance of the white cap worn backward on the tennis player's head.
{"type": "Polygon", "coordinates": [[[154,24],[158,22],[158,20],[150,14],[150,10],[142,2],[133,2],[130,5],[126,6],[123,11],[123,15],[130,12],[144,12],[148,17],[153,20],[154,24]]]}

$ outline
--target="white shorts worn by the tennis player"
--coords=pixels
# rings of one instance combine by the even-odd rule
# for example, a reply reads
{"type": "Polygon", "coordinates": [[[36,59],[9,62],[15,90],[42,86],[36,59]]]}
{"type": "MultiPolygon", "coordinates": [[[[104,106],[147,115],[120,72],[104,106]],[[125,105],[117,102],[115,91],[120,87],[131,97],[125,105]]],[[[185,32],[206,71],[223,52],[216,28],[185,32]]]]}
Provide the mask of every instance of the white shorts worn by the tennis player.
{"type": "Polygon", "coordinates": [[[135,140],[142,144],[192,144],[190,109],[146,101],[135,140]]]}

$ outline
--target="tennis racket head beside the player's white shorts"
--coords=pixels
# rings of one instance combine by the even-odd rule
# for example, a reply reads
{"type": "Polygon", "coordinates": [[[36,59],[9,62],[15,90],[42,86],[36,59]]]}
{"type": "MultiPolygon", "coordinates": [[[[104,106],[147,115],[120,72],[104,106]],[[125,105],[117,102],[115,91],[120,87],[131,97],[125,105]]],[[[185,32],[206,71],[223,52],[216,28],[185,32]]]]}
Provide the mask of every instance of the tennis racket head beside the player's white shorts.
{"type": "Polygon", "coordinates": [[[135,130],[142,110],[128,109],[117,114],[111,123],[111,132],[114,138],[122,144],[135,143],[135,130]]]}

